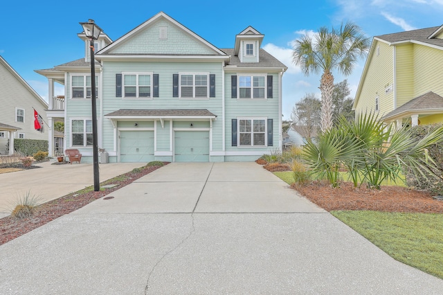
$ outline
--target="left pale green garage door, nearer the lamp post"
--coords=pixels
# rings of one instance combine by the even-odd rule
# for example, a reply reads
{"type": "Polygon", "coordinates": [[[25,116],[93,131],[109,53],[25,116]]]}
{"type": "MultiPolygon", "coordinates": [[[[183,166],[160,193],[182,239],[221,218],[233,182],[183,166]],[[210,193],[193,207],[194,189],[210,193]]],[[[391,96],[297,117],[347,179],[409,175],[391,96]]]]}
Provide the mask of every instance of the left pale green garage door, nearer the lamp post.
{"type": "Polygon", "coordinates": [[[154,131],[121,131],[120,162],[154,161],[154,131]]]}

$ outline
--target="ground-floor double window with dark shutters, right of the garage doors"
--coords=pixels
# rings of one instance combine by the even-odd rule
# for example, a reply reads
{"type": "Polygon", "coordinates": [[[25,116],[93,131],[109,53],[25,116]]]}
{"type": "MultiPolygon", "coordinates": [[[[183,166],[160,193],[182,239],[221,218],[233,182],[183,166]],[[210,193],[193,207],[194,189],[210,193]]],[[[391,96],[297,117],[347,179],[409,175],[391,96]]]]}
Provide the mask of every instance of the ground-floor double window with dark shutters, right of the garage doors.
{"type": "Polygon", "coordinates": [[[266,145],[265,119],[239,119],[239,145],[266,145]]]}

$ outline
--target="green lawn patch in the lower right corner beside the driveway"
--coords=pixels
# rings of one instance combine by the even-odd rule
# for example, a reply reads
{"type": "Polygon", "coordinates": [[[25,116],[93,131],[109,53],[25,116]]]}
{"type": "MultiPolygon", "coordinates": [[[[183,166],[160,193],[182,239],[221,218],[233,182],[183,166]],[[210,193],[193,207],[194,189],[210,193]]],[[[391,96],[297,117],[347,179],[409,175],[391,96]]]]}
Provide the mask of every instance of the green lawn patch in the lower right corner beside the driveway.
{"type": "Polygon", "coordinates": [[[332,211],[400,262],[443,279],[443,214],[332,211]]]}

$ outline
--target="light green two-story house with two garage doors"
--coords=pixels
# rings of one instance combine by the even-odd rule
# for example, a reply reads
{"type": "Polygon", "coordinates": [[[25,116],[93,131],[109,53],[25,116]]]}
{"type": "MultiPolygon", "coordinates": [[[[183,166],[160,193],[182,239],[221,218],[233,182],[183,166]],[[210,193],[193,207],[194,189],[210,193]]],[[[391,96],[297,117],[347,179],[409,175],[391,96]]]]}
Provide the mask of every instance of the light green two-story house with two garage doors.
{"type": "MultiPolygon", "coordinates": [[[[65,86],[65,148],[91,161],[89,41],[85,57],[39,70],[65,86]]],[[[111,162],[254,161],[282,147],[282,75],[249,26],[217,48],[163,12],[96,42],[98,143],[111,162]]],[[[52,94],[52,93],[51,93],[52,94]]],[[[56,97],[56,96],[55,96],[56,97]]],[[[59,96],[60,97],[60,96],[59,96]]]]}

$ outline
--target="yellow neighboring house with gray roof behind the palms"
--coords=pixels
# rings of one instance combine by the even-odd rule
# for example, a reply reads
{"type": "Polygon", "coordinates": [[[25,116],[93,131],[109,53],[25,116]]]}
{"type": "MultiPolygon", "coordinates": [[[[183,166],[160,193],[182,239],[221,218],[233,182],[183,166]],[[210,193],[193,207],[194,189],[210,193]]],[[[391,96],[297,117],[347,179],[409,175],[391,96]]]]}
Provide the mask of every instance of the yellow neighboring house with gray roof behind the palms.
{"type": "Polygon", "coordinates": [[[352,109],[397,127],[443,123],[443,26],[374,37],[352,109]]]}

